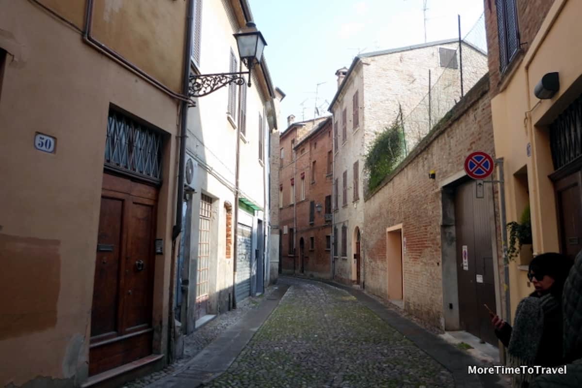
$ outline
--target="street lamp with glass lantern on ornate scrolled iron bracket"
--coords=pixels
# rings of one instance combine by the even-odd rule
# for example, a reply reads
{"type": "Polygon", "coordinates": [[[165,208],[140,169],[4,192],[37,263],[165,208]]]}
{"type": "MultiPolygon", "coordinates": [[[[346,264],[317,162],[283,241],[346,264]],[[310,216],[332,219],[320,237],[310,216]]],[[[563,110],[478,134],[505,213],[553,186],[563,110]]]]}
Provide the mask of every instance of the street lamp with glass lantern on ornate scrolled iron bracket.
{"type": "Polygon", "coordinates": [[[244,75],[249,74],[248,85],[251,85],[251,70],[255,64],[261,63],[262,51],[267,45],[265,38],[252,21],[247,22],[237,34],[233,34],[239,48],[240,61],[249,71],[217,74],[191,74],[189,77],[188,96],[202,97],[225,87],[226,85],[244,85],[244,75]]]}

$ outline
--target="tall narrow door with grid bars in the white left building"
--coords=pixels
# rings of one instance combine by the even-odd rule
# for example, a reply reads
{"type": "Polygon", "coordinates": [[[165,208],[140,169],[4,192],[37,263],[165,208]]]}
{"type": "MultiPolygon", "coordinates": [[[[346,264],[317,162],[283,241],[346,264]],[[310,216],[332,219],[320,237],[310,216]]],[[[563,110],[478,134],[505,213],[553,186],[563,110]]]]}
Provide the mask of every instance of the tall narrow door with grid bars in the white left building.
{"type": "Polygon", "coordinates": [[[208,270],[210,267],[210,217],[212,198],[200,198],[200,227],[198,227],[198,276],[196,279],[196,320],[208,310],[208,270]]]}

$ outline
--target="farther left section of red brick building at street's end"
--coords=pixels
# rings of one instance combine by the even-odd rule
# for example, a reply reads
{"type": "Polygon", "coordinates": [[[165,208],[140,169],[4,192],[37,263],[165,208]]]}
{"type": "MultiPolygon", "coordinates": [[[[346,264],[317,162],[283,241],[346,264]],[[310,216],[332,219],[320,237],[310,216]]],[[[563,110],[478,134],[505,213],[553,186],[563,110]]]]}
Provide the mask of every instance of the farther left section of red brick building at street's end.
{"type": "MultiPolygon", "coordinates": [[[[293,115],[288,117],[288,128],[279,136],[279,268],[283,274],[293,274],[301,269],[296,233],[296,204],[301,201],[301,179],[297,172],[296,145],[326,118],[299,123],[294,123],[294,119],[293,115]]],[[[306,181],[303,183],[307,185],[306,181]]]]}

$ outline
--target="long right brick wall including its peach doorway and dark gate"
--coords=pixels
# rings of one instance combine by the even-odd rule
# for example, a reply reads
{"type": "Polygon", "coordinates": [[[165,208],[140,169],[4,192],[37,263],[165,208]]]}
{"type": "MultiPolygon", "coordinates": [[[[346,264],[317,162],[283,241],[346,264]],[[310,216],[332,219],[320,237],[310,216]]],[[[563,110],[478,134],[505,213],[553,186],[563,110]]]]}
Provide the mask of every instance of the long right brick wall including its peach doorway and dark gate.
{"type": "Polygon", "coordinates": [[[501,308],[498,199],[492,184],[476,197],[463,170],[474,150],[494,155],[488,89],[485,76],[366,197],[363,282],[434,326],[496,344],[482,305],[501,308]]]}

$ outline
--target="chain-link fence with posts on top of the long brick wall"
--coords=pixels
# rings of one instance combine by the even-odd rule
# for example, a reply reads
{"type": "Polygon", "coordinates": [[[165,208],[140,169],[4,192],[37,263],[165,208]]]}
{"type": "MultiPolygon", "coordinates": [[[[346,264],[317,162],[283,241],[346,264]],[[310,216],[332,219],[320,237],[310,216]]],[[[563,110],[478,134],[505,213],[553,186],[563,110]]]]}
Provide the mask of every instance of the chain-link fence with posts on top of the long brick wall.
{"type": "MultiPolygon", "coordinates": [[[[410,152],[431,128],[459,102],[488,71],[485,15],[482,14],[456,51],[443,52],[439,74],[430,74],[427,94],[410,112],[404,112],[402,125],[406,152],[410,152]],[[448,59],[443,63],[443,56],[448,59]]],[[[427,70],[428,72],[429,70],[427,70]]],[[[436,73],[436,72],[435,72],[436,73]]]]}

